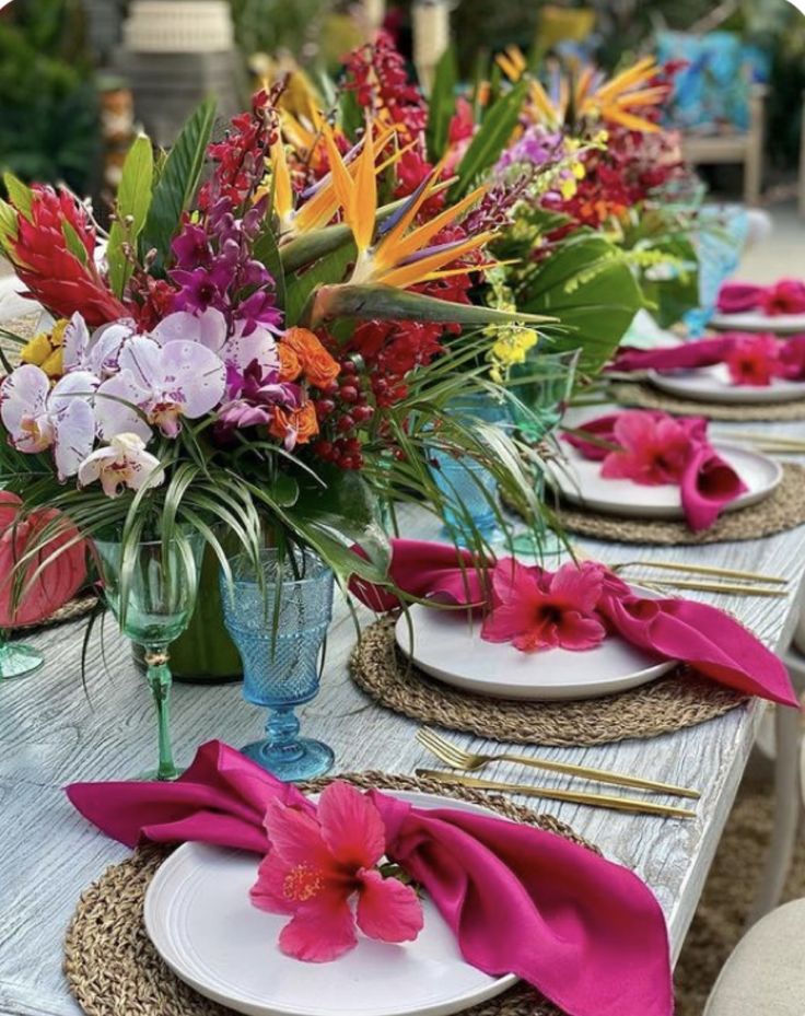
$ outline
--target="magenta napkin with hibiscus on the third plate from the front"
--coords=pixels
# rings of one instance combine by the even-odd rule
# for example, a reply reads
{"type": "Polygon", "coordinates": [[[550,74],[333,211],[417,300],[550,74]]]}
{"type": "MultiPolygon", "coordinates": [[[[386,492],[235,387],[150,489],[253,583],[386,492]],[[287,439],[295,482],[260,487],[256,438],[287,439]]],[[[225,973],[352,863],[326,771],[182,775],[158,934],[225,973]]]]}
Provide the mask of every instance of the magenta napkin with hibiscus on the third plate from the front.
{"type": "Polygon", "coordinates": [[[724,507],[744,493],[747,488],[733,467],[708,442],[708,421],[703,417],[687,417],[675,420],[663,412],[626,410],[625,412],[608,413],[595,420],[590,420],[578,428],[575,433],[563,434],[562,436],[568,444],[573,445],[585,458],[593,462],[603,462],[604,476],[607,475],[608,466],[617,464],[619,458],[626,458],[627,455],[630,455],[635,458],[640,457],[644,470],[648,471],[648,478],[641,477],[640,472],[637,471],[630,472],[628,469],[610,469],[609,475],[626,478],[631,476],[634,482],[643,486],[673,482],[673,471],[665,471],[663,475],[655,477],[650,469],[652,454],[664,457],[666,460],[669,458],[667,437],[657,441],[656,446],[653,448],[629,448],[627,453],[617,451],[621,446],[621,441],[628,436],[625,424],[639,420],[651,421],[654,431],[660,437],[663,437],[663,434],[657,424],[667,424],[667,428],[678,432],[676,436],[682,441],[682,445],[677,471],[685,517],[693,532],[712,526],[724,507]],[[621,429],[623,429],[622,435],[620,433],[621,429]],[[584,434],[590,434],[599,442],[610,445],[610,447],[603,447],[600,444],[586,441],[584,434]]]}

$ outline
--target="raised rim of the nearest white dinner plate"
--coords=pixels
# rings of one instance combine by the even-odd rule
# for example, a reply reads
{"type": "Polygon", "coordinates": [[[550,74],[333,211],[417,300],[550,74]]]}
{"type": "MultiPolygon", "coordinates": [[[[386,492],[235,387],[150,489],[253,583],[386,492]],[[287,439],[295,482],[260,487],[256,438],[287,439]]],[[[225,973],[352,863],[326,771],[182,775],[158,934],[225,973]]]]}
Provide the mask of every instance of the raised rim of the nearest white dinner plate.
{"type": "MultiPolygon", "coordinates": [[[[337,775],[336,775],[337,779],[337,775]]],[[[492,810],[491,808],[485,808],[481,805],[477,805],[472,802],[462,801],[460,798],[453,798],[447,796],[441,796],[439,794],[427,794],[421,792],[412,791],[394,791],[394,796],[399,797],[402,801],[408,801],[411,804],[422,807],[422,808],[444,808],[444,807],[455,807],[460,810],[475,811],[479,815],[493,815],[498,818],[501,816],[499,813],[492,810]]],[[[312,794],[311,799],[315,801],[317,794],[312,794]]],[[[509,821],[510,819],[506,819],[509,821]]],[[[190,967],[187,961],[183,961],[182,956],[177,955],[174,948],[173,943],[166,936],[159,916],[156,914],[156,909],[159,906],[159,896],[163,891],[163,884],[166,883],[173,876],[173,869],[178,865],[183,864],[187,854],[199,846],[203,846],[208,850],[220,849],[222,851],[230,851],[231,848],[214,848],[210,844],[189,842],[183,843],[177,850],[175,850],[170,857],[167,857],[156,871],[156,874],[151,879],[148,889],[145,890],[145,900],[143,906],[143,920],[145,924],[145,932],[151,939],[156,951],[160,954],[162,959],[167,964],[167,966],[173,970],[176,977],[179,980],[184,981],[186,984],[189,984],[190,988],[195,989],[199,994],[203,995],[206,999],[211,999],[213,1002],[232,1008],[235,1012],[254,1012],[254,1003],[250,999],[237,997],[235,995],[226,995],[222,992],[217,991],[214,988],[210,988],[197,976],[195,968],[190,967]]],[[[336,960],[337,962],[337,960],[336,960]]],[[[304,964],[300,961],[300,970],[304,970],[304,964]]],[[[468,965],[470,966],[470,965],[468,965]]],[[[416,1009],[417,1016],[436,1016],[436,1014],[448,1014],[448,1013],[462,1013],[467,1008],[470,1008],[474,1005],[478,1005],[482,1002],[487,1002],[490,999],[495,997],[497,995],[502,994],[504,991],[508,991],[514,984],[516,984],[518,978],[513,974],[504,974],[500,978],[495,978],[487,988],[474,990],[471,992],[466,992],[463,995],[457,995],[455,1000],[445,1002],[441,1000],[432,1005],[427,1005],[416,1009]]],[[[281,1008],[271,1007],[270,1002],[266,1002],[262,1009],[265,1016],[346,1016],[346,1011],[343,1008],[318,1008],[315,1013],[311,1012],[310,1007],[304,1009],[298,1008],[295,1006],[283,1005],[281,1008]]],[[[374,1016],[374,1014],[369,1014],[368,1011],[359,1011],[361,1016],[374,1016]]],[[[400,1008],[399,1013],[413,1013],[412,1009],[400,1008]]],[[[394,1016],[392,1009],[384,1011],[382,1016],[394,1016]]]]}

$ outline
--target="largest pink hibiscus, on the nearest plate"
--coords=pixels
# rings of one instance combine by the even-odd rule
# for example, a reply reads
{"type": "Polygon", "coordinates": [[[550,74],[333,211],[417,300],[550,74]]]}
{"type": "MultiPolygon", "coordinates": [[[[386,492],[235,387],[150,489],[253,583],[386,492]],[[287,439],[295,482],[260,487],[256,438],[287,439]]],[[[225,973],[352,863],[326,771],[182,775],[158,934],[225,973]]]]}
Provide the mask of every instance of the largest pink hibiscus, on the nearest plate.
{"type": "Polygon", "coordinates": [[[360,791],[336,781],[315,813],[273,799],[264,824],[271,849],[250,896],[261,910],[292,915],[280,933],[283,953],[327,962],[357,945],[355,924],[382,942],[411,942],[422,930],[413,889],[377,871],[386,830],[360,791]]]}

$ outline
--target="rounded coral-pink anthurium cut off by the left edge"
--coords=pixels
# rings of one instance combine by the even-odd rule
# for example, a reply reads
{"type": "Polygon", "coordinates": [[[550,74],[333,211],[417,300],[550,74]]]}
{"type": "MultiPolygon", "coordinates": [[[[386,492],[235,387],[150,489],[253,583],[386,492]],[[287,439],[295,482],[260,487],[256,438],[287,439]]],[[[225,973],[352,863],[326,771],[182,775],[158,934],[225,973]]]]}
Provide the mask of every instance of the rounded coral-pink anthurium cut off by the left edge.
{"type": "Polygon", "coordinates": [[[36,624],[45,620],[72,599],[86,579],[85,544],[78,540],[78,530],[66,516],[52,509],[39,509],[21,517],[21,506],[22,502],[16,494],[0,491],[0,628],[36,624]],[[22,579],[22,589],[25,592],[14,609],[15,564],[37,534],[59,518],[65,526],[26,567],[22,579]],[[71,541],[74,542],[68,547],[71,541]],[[34,579],[36,569],[60,547],[66,549],[34,579]],[[28,580],[33,580],[30,586],[28,580]]]}

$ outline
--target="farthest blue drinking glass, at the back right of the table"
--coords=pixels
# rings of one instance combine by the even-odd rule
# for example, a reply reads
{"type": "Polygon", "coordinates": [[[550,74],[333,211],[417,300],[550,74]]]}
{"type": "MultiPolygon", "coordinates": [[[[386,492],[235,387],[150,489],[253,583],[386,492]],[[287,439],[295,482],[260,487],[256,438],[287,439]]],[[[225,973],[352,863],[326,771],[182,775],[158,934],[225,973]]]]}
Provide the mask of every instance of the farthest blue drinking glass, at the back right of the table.
{"type": "Polygon", "coordinates": [[[699,222],[693,236],[699,259],[699,306],[682,317],[693,338],[703,335],[715,313],[719,291],[737,269],[749,230],[746,209],[739,205],[704,205],[699,210],[699,222]]]}

